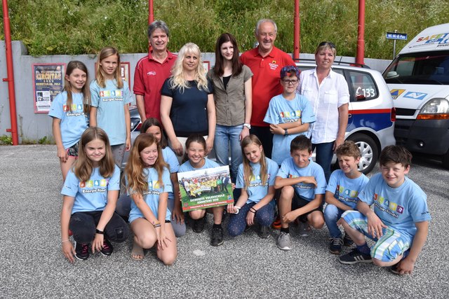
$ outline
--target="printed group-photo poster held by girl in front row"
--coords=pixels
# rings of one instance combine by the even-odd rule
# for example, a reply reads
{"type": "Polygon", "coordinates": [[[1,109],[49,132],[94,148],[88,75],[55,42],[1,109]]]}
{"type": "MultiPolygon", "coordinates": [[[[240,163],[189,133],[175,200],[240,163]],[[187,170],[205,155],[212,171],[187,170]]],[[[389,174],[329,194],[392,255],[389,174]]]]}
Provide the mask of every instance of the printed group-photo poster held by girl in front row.
{"type": "Polygon", "coordinates": [[[182,211],[194,211],[234,203],[229,166],[178,172],[182,211]]]}

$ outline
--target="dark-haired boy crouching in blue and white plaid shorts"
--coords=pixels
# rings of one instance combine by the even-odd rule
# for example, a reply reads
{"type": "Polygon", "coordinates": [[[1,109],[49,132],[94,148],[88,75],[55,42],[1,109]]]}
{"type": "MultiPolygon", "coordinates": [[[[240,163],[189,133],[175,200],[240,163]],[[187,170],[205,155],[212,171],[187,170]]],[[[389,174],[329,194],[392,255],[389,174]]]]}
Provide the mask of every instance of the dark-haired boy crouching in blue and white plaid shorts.
{"type": "Polygon", "coordinates": [[[427,239],[427,196],[406,177],[412,155],[402,146],[387,146],[380,153],[380,174],[375,174],[358,195],[358,211],[346,211],[338,222],[356,249],[340,256],[340,263],[371,263],[391,267],[396,274],[411,274],[427,239]],[[370,205],[374,204],[374,211],[370,205]],[[368,247],[365,236],[376,243],[368,247]]]}

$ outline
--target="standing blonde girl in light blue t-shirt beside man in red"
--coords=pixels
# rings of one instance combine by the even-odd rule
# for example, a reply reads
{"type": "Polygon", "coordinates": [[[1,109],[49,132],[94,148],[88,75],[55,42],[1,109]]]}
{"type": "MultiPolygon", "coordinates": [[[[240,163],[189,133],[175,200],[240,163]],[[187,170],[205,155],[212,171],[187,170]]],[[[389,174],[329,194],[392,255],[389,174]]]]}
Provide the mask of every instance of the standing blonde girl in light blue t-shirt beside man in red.
{"type": "Polygon", "coordinates": [[[116,165],[121,167],[125,151],[131,147],[130,115],[132,101],[128,83],[120,72],[120,55],[116,48],[102,48],[91,83],[91,127],[101,127],[111,141],[116,165]]]}

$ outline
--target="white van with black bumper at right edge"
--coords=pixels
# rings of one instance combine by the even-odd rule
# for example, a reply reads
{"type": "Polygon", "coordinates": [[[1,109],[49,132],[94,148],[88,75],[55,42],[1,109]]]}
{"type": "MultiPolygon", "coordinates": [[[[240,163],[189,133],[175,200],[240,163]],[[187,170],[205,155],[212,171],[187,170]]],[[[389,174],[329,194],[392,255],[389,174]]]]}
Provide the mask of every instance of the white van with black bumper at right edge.
{"type": "Polygon", "coordinates": [[[384,71],[396,108],[396,144],[449,168],[449,23],[415,36],[384,71]]]}

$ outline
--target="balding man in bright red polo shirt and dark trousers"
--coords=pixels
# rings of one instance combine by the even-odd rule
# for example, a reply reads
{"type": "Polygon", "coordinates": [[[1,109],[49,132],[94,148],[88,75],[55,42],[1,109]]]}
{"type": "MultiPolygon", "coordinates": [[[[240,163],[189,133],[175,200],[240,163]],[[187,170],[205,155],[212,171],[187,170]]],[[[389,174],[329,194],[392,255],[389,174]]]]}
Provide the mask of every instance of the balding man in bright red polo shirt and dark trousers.
{"type": "Polygon", "coordinates": [[[255,27],[259,46],[241,55],[241,62],[253,71],[253,113],[251,134],[257,135],[264,145],[264,153],[272,158],[273,135],[269,124],[264,123],[269,100],[282,93],[281,69],[295,65],[292,57],[274,46],[277,26],[273,20],[262,19],[255,27]]]}

